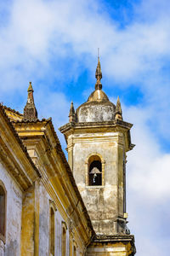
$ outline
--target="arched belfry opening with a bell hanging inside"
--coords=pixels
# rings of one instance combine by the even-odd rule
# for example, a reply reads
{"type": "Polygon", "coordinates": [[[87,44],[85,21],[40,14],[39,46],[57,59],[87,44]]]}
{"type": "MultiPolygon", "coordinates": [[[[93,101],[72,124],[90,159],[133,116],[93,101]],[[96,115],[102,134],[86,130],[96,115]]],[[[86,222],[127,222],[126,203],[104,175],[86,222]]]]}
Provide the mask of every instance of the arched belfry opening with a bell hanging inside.
{"type": "Polygon", "coordinates": [[[102,163],[98,155],[92,155],[88,159],[88,185],[102,185],[102,163]]]}

